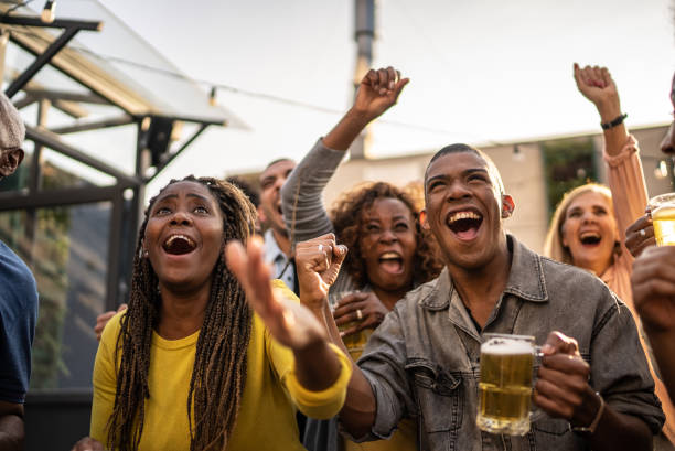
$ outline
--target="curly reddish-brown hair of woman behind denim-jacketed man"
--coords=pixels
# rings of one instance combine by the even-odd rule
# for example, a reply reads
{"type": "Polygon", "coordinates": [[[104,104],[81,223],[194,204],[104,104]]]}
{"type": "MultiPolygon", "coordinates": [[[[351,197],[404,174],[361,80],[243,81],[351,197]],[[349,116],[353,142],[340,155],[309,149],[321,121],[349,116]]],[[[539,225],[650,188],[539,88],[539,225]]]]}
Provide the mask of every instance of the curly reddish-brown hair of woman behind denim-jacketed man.
{"type": "Polygon", "coordinates": [[[406,192],[385,182],[358,184],[343,193],[333,203],[330,216],[335,228],[335,236],[340,243],[346,245],[350,249],[342,264],[343,270],[347,271],[357,287],[364,287],[369,282],[360,244],[363,233],[362,212],[372,207],[375,201],[379,198],[396,198],[403,202],[415,219],[417,246],[413,259],[414,283],[425,283],[437,277],[442,270],[443,264],[437,251],[438,246],[433,236],[422,229],[419,224],[418,207],[406,192]]]}

